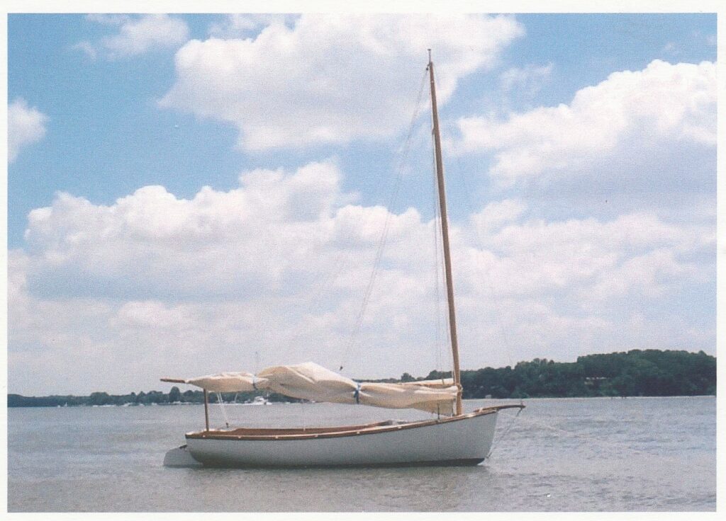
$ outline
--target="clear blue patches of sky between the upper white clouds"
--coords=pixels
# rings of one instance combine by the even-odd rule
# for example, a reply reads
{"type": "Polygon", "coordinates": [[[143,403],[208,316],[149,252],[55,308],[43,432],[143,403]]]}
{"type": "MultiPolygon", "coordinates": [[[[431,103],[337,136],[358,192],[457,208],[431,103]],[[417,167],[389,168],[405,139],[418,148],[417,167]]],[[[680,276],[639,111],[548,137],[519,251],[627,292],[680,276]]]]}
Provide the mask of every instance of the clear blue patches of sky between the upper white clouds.
{"type": "MultiPolygon", "coordinates": [[[[184,20],[191,38],[204,39],[209,25],[223,17],[199,14],[184,20]]],[[[507,99],[512,110],[568,103],[579,88],[616,70],[643,69],[653,59],[698,63],[716,58],[716,46],[709,43],[716,33],[711,14],[521,14],[518,20],[526,37],[505,49],[497,70],[518,64],[554,67],[546,88],[507,99]]],[[[204,185],[229,189],[250,167],[293,166],[333,153],[360,171],[346,183],[353,190],[366,188],[362,195],[367,196],[370,186],[357,181],[386,161],[380,143],[351,143],[322,153],[241,154],[234,149],[237,130],[231,125],[155,106],[174,82],[174,47],[132,59],[89,59],[74,46],[110,30],[72,14],[10,15],[8,31],[9,99],[23,97],[53,122],[34,153],[12,165],[10,247],[22,244],[28,212],[49,204],[56,191],[110,204],[135,188],[158,183],[190,197],[204,185]],[[361,165],[370,156],[370,164],[361,165]]],[[[502,101],[497,70],[464,78],[457,97],[446,105],[446,116],[476,112],[482,104],[497,107],[502,101]]],[[[401,141],[400,135],[396,138],[392,141],[401,141]]]]}

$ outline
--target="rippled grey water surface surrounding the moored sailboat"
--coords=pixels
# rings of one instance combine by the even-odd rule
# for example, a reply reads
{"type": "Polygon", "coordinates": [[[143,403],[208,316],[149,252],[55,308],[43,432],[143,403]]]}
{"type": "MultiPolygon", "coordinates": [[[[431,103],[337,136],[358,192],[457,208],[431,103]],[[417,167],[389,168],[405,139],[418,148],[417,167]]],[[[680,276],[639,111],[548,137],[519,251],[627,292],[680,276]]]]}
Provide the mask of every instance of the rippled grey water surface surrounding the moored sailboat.
{"type": "MultiPolygon", "coordinates": [[[[492,403],[465,401],[465,409],[492,403]]],[[[199,405],[8,409],[9,512],[714,511],[716,399],[529,399],[478,467],[163,467],[199,405]]],[[[335,404],[228,406],[237,425],[420,417],[335,404]]],[[[222,424],[218,406],[213,426],[222,424]]]]}

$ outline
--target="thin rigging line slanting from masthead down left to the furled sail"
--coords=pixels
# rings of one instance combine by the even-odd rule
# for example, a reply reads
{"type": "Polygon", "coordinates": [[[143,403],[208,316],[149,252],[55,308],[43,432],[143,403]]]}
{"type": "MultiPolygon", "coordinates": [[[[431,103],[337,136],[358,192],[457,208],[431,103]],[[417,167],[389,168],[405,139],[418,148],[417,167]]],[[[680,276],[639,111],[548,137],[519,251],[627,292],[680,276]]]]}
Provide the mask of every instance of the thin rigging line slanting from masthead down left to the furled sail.
{"type": "Polygon", "coordinates": [[[359,310],[358,316],[356,317],[356,325],[354,326],[353,333],[351,333],[351,340],[348,342],[348,346],[346,347],[345,351],[343,351],[343,357],[340,360],[340,370],[343,370],[343,367],[346,363],[346,359],[348,357],[349,351],[353,348],[355,345],[360,330],[363,327],[363,317],[365,314],[365,311],[368,306],[368,301],[370,300],[371,293],[373,291],[373,285],[375,283],[376,275],[378,275],[378,268],[380,267],[380,260],[383,258],[383,249],[386,246],[386,238],[388,238],[388,229],[391,225],[391,215],[393,214],[393,204],[396,201],[396,198],[399,193],[399,188],[401,187],[401,179],[403,178],[403,170],[404,170],[404,161],[407,158],[410,148],[411,148],[411,141],[413,136],[413,131],[416,125],[416,120],[419,117],[419,114],[421,112],[421,99],[423,97],[423,88],[425,86],[425,80],[426,80],[426,72],[424,71],[422,77],[421,77],[421,83],[418,90],[418,96],[416,99],[415,109],[414,113],[411,117],[411,122],[409,125],[408,133],[406,135],[406,138],[404,140],[404,144],[399,149],[398,153],[398,161],[396,163],[396,178],[393,183],[393,191],[391,193],[391,199],[388,201],[388,207],[386,207],[386,220],[383,222],[383,231],[381,233],[380,239],[378,241],[378,247],[376,248],[375,253],[375,260],[373,262],[373,269],[370,275],[370,279],[368,280],[368,284],[366,286],[366,289],[363,294],[363,301],[361,304],[361,308],[359,310]]]}

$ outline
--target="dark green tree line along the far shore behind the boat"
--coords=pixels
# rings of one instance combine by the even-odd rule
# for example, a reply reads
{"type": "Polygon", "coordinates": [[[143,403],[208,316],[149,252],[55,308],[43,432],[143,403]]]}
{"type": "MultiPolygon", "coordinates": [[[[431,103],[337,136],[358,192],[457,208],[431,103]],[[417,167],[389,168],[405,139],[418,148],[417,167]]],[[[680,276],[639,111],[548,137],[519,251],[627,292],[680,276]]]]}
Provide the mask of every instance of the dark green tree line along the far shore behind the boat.
{"type": "MultiPolygon", "coordinates": [[[[415,378],[405,372],[401,378],[377,380],[412,382],[450,378],[451,372],[431,371],[415,378]]],[[[634,349],[611,354],[589,354],[576,362],[534,359],[514,367],[484,367],[461,372],[464,399],[523,399],[589,396],[701,396],[716,394],[716,358],[699,351],[634,349]]],[[[373,380],[367,380],[373,381],[373,380]]],[[[221,393],[225,403],[245,403],[261,393],[221,393]]],[[[276,393],[268,401],[298,401],[276,393]]],[[[174,386],[168,393],[143,391],[124,395],[94,392],[89,396],[21,396],[8,394],[7,407],[64,407],[105,405],[200,404],[203,391],[181,392],[174,386]]],[[[209,394],[216,403],[216,393],[209,394]]]]}

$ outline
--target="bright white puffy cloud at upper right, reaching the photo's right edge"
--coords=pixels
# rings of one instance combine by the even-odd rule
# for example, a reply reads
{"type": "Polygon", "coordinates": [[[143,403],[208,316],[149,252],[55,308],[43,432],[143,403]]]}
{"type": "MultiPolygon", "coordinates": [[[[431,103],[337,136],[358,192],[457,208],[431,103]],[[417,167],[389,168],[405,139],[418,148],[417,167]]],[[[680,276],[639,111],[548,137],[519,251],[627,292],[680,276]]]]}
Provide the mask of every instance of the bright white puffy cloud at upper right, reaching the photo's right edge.
{"type": "MultiPolygon", "coordinates": [[[[570,104],[505,120],[462,118],[452,147],[460,153],[494,152],[489,174],[504,184],[596,178],[603,172],[616,174],[611,180],[637,183],[643,170],[664,170],[658,158],[680,158],[681,167],[673,161],[669,168],[682,173],[692,157],[698,162],[714,157],[716,100],[714,63],[655,60],[643,70],[613,72],[578,91],[570,104]]],[[[650,180],[654,173],[648,172],[650,180]]]]}

